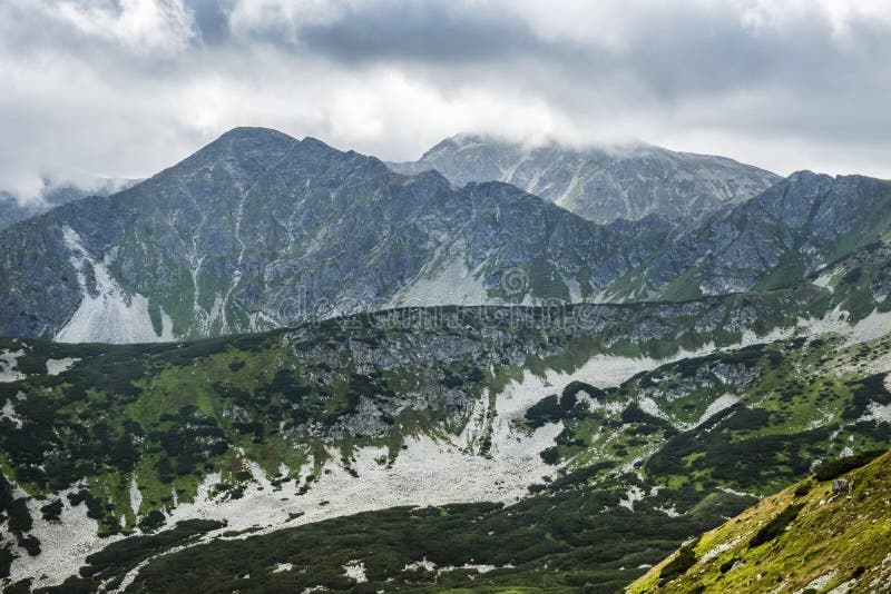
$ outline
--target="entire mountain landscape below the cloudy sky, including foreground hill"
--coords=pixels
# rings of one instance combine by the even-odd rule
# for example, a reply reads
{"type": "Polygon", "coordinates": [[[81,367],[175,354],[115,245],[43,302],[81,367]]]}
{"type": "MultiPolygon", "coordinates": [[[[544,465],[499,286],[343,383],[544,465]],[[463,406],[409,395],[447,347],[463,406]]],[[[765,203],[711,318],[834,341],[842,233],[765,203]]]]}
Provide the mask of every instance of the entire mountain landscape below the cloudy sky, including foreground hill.
{"type": "Polygon", "coordinates": [[[0,588],[881,591],[891,182],[635,150],[237,128],[0,230],[0,588]]]}

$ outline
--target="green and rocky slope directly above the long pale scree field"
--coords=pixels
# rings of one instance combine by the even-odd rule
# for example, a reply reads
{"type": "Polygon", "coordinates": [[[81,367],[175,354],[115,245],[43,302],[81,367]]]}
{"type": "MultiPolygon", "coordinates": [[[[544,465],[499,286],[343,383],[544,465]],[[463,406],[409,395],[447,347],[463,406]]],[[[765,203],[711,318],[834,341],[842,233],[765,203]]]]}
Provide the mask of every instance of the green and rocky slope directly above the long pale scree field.
{"type": "Polygon", "coordinates": [[[737,318],[766,331],[819,295],[401,310],[167,345],[0,339],[0,352],[20,353],[17,370],[26,375],[0,383],[0,407],[11,413],[0,416],[0,471],[36,496],[85,481],[82,488],[109,502],[94,512],[101,533],[131,532],[133,479],[145,516],[170,506],[172,488],[190,501],[210,473],[221,473],[221,489],[237,492],[247,461],[281,479],[283,464],[317,473],[332,448],[347,465],[366,445],[389,447],[392,458],[405,436],[459,434],[471,405],[523,369],[572,370],[598,353],[666,356],[728,344],[742,335],[737,318]],[[70,369],[47,374],[48,362],[66,358],[77,359],[70,369]]]}

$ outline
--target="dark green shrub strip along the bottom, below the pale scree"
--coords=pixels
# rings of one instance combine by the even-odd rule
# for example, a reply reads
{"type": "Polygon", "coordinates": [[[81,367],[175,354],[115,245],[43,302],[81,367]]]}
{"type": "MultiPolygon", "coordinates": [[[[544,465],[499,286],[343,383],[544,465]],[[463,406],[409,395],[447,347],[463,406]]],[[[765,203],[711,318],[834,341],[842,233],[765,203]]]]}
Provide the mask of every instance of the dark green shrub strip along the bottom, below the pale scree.
{"type": "MultiPolygon", "coordinates": [[[[547,493],[510,507],[399,507],[244,539],[217,539],[156,557],[139,571],[131,590],[177,592],[182,576],[188,575],[203,592],[221,593],[316,586],[341,592],[518,586],[614,592],[640,575],[642,565],[655,563],[689,534],[752,502],[714,493],[688,513],[668,517],[656,508],[672,499],[696,501],[699,494],[665,493],[631,512],[618,505],[623,491],[577,487],[550,485],[547,493]],[[354,562],[363,564],[368,582],[346,576],[344,566],[354,562]]],[[[118,572],[136,561],[119,550],[104,552],[101,558],[115,558],[118,572]]]]}

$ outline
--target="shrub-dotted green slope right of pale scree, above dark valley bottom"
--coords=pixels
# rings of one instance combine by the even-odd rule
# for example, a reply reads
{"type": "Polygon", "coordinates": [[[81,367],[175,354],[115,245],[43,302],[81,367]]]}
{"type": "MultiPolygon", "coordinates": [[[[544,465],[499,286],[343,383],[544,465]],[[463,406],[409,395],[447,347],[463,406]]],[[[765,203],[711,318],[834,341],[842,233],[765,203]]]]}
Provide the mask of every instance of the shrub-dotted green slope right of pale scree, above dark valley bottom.
{"type": "Polygon", "coordinates": [[[565,428],[546,453],[569,468],[638,461],[652,485],[771,494],[815,461],[891,445],[872,415],[891,404],[871,363],[889,350],[887,339],[799,338],[666,364],[607,390],[570,386],[593,402],[555,414],[565,428]]]}

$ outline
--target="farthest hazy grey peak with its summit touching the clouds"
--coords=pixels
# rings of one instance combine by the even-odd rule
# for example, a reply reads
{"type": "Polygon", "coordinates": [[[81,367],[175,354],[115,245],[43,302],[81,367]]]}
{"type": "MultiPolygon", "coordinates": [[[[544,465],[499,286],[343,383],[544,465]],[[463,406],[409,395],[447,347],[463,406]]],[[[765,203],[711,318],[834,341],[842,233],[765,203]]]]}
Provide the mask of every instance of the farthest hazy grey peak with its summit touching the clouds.
{"type": "Polygon", "coordinates": [[[645,143],[575,149],[550,141],[529,147],[471,133],[447,138],[419,160],[390,167],[402,174],[435,169],[458,186],[505,181],[597,222],[648,215],[695,221],[781,179],[724,157],[645,143]]]}

